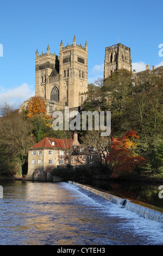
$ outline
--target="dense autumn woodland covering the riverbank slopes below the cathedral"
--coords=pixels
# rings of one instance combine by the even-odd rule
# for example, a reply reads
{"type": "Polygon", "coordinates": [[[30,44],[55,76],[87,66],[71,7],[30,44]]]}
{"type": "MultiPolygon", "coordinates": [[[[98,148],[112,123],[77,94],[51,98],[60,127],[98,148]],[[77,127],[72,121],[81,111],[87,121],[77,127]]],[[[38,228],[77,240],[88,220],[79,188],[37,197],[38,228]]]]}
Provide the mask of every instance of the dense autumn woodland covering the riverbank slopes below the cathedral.
{"type": "MultiPolygon", "coordinates": [[[[95,162],[111,176],[163,173],[163,67],[137,74],[117,70],[89,84],[85,111],[111,111],[111,134],[78,131],[81,147],[95,149],[95,162]]],[[[72,131],[54,131],[43,99],[33,97],[27,111],[5,103],[0,118],[0,174],[27,173],[28,149],[45,137],[68,138],[72,131]]],[[[81,124],[82,125],[82,124],[81,124]]],[[[101,168],[100,168],[101,170],[101,168]]]]}

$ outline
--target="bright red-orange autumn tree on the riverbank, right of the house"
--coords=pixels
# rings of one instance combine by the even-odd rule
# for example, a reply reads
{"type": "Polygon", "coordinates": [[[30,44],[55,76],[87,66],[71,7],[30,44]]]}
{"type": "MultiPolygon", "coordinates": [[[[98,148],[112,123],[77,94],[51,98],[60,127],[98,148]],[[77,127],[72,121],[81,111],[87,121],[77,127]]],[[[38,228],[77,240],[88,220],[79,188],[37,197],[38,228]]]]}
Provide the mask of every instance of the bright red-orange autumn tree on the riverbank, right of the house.
{"type": "Polygon", "coordinates": [[[121,138],[112,137],[108,163],[111,164],[112,176],[133,172],[138,165],[145,164],[145,159],[135,153],[136,131],[126,132],[121,138]]]}

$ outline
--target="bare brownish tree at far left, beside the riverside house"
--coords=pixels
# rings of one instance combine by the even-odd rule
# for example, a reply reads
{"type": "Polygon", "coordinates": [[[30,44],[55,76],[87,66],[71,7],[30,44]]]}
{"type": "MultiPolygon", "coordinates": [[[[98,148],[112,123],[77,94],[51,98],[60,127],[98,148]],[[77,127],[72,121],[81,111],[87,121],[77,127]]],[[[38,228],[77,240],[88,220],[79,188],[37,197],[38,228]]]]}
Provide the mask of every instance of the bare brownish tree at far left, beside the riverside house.
{"type": "Polygon", "coordinates": [[[36,143],[32,125],[18,111],[0,120],[0,159],[2,174],[22,175],[28,159],[28,149],[36,143]]]}

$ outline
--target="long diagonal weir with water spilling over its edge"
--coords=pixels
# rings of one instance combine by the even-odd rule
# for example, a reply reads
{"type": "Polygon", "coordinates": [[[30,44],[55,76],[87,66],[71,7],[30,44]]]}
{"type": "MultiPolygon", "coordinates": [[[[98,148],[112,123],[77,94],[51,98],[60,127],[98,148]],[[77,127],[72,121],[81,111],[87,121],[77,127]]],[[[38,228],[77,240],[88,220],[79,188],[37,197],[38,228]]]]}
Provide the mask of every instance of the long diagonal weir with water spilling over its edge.
{"type": "Polygon", "coordinates": [[[137,200],[129,198],[121,198],[110,194],[107,191],[99,190],[97,188],[91,187],[89,185],[83,185],[74,181],[67,181],[68,184],[75,185],[88,190],[100,197],[105,198],[111,203],[122,205],[129,211],[135,212],[137,215],[142,216],[148,220],[157,221],[163,223],[163,212],[162,209],[156,208],[153,205],[145,204],[137,200]]]}

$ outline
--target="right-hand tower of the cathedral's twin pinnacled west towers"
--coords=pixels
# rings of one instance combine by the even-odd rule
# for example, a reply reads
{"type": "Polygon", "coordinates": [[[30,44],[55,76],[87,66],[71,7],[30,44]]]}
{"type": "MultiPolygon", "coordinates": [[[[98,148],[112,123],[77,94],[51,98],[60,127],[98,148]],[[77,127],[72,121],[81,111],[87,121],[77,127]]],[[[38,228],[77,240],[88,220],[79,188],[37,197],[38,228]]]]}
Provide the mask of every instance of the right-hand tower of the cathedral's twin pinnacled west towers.
{"type": "Polygon", "coordinates": [[[74,36],[73,44],[64,47],[61,41],[59,77],[62,101],[70,108],[78,107],[79,93],[87,92],[87,42],[84,47],[77,45],[74,36]]]}

